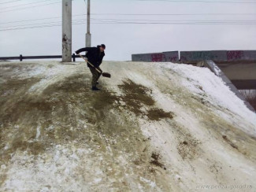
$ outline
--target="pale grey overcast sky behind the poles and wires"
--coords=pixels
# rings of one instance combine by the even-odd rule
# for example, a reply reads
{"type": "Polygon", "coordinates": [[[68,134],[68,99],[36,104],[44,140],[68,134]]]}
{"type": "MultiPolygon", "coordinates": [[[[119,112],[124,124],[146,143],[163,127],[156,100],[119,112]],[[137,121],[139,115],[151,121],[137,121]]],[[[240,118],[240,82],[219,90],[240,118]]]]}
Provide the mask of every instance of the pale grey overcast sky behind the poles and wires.
{"type": "MultiPolygon", "coordinates": [[[[61,24],[61,9],[61,0],[0,0],[0,57],[61,54],[61,26],[44,27],[61,24]],[[49,17],[55,18],[46,19],[49,17]],[[35,26],[42,28],[31,28],[35,26]],[[2,31],[13,28],[25,29],[2,31]]],[[[83,0],[72,1],[72,52],[85,46],[86,11],[83,0]]],[[[256,50],[256,0],[91,0],[91,13],[91,45],[106,44],[104,59],[108,61],[173,50],[256,50]],[[119,23],[109,24],[113,20],[106,19],[119,23]],[[195,24],[199,20],[208,22],[195,24]],[[228,23],[209,24],[220,20],[228,23]]]]}

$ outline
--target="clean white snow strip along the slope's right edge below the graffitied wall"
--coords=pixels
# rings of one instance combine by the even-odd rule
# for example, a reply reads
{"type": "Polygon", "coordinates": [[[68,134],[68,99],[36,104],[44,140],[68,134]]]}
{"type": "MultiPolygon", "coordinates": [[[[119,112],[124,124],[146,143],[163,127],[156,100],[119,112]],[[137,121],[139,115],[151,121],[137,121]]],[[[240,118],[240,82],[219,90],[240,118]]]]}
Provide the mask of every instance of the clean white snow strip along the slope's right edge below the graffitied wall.
{"type": "MultiPolygon", "coordinates": [[[[192,65],[174,64],[168,64],[167,68],[173,69],[184,78],[191,79],[191,81],[183,80],[182,84],[193,93],[200,93],[198,86],[201,86],[202,89],[206,91],[206,94],[210,96],[210,100],[208,100],[209,102],[212,102],[214,105],[221,105],[232,113],[239,115],[240,118],[253,124],[252,129],[249,127],[243,128],[252,135],[255,135],[255,113],[248,110],[244,102],[225,85],[224,81],[220,77],[214,76],[213,73],[210,72],[209,68],[197,68],[192,65]]],[[[226,118],[228,118],[228,116],[226,118]]]]}

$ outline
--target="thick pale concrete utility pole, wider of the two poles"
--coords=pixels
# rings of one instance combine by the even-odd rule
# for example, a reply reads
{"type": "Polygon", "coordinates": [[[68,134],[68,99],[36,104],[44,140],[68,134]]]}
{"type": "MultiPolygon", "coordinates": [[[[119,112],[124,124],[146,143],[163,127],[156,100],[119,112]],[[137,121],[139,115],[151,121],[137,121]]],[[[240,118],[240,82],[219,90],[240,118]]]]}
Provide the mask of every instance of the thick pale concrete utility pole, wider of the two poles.
{"type": "Polygon", "coordinates": [[[72,61],[72,0],[62,0],[62,62],[72,61]]]}

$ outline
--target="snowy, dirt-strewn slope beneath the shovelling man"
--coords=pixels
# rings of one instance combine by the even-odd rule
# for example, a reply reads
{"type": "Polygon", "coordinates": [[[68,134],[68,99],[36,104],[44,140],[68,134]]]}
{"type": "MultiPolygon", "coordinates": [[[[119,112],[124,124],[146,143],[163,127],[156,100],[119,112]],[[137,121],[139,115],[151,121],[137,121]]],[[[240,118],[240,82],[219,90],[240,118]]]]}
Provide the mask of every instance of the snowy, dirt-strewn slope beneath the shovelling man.
{"type": "Polygon", "coordinates": [[[105,61],[100,92],[80,62],[0,70],[1,191],[256,189],[256,114],[208,68],[105,61]]]}

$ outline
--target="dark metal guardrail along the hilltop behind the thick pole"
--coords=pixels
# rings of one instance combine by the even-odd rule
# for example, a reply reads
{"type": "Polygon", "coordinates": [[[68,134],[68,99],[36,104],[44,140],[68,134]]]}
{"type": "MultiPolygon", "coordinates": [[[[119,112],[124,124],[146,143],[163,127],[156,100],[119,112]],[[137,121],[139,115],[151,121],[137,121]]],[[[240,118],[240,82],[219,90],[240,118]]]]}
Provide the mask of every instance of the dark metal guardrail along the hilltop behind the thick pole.
{"type": "MultiPolygon", "coordinates": [[[[72,61],[76,61],[76,58],[80,57],[79,55],[72,54],[72,61]]],[[[85,55],[84,55],[85,57],[85,55]]],[[[58,59],[62,58],[62,55],[45,55],[45,56],[22,56],[20,57],[0,57],[0,60],[20,60],[23,61],[24,59],[58,59]]]]}

